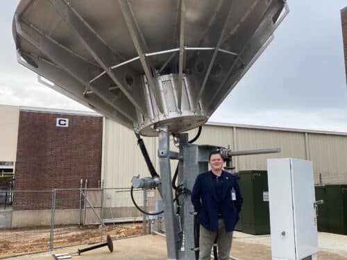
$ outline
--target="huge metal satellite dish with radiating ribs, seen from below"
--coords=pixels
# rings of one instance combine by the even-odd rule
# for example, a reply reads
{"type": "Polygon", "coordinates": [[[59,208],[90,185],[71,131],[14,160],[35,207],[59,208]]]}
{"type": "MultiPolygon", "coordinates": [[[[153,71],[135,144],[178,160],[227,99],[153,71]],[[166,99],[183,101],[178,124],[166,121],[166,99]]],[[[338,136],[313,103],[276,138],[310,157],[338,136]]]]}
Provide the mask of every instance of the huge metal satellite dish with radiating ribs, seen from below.
{"type": "Polygon", "coordinates": [[[18,61],[141,135],[205,123],[271,42],[283,0],[22,0],[18,61]]]}

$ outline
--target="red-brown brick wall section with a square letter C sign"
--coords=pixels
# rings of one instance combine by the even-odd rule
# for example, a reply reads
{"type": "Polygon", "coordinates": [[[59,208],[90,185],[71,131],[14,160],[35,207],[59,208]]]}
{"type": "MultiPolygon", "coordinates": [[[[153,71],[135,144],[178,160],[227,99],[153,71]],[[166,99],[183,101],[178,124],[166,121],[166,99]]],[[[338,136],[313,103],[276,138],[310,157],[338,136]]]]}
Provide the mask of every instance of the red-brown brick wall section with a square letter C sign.
{"type": "MultiPolygon", "coordinates": [[[[21,109],[19,112],[14,189],[78,189],[81,179],[87,180],[88,188],[99,187],[102,117],[52,111],[21,109]]],[[[37,193],[15,193],[13,209],[51,207],[51,196],[41,199],[40,205],[37,205],[37,200],[31,194],[37,193]]],[[[76,193],[67,193],[66,197],[69,198],[72,194],[76,193]]],[[[78,202],[60,200],[56,207],[78,207],[71,201],[78,202]]]]}

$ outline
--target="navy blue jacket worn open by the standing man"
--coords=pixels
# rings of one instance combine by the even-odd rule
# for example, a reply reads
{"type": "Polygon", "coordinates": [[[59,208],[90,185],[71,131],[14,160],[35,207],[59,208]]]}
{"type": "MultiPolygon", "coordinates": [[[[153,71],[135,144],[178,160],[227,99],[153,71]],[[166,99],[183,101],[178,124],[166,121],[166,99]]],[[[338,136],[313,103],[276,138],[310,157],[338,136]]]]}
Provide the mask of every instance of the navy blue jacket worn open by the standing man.
{"type": "MultiPolygon", "coordinates": [[[[242,194],[239,189],[237,177],[222,171],[222,200],[221,214],[226,226],[226,232],[234,230],[239,220],[242,207],[242,194]],[[232,188],[235,190],[236,200],[232,200],[232,188]]],[[[194,210],[198,212],[198,220],[206,229],[218,231],[218,208],[216,195],[216,177],[212,171],[201,173],[196,177],[192,191],[194,210]]]]}

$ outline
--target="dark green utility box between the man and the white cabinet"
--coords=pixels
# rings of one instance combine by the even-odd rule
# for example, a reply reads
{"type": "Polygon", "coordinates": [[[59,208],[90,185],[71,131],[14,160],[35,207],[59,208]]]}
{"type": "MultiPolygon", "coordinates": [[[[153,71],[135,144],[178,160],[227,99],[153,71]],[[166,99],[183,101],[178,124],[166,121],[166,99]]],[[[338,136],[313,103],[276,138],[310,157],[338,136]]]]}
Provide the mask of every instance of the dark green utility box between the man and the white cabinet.
{"type": "Polygon", "coordinates": [[[239,186],[244,198],[239,231],[270,234],[267,171],[239,171],[239,186]]]}

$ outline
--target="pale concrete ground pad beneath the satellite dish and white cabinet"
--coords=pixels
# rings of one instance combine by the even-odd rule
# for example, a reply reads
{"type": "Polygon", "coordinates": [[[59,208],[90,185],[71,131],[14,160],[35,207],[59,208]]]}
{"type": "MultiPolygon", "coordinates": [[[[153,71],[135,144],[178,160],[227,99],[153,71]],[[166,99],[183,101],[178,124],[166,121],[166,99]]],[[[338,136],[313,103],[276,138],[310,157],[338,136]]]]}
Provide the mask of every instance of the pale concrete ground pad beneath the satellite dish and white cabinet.
{"type": "MultiPolygon", "coordinates": [[[[166,239],[162,236],[146,235],[128,239],[113,241],[114,252],[109,252],[107,247],[98,248],[85,252],[78,256],[73,254],[72,259],[81,260],[128,260],[144,259],[159,260],[167,259],[166,239]]],[[[23,260],[53,259],[52,254],[77,252],[78,248],[87,248],[88,245],[62,248],[52,252],[31,254],[14,257],[23,260]]],[[[231,255],[239,260],[269,260],[271,259],[271,237],[269,235],[253,236],[241,232],[234,233],[231,255]]],[[[346,260],[347,259],[347,236],[319,232],[319,260],[346,260]]]]}

